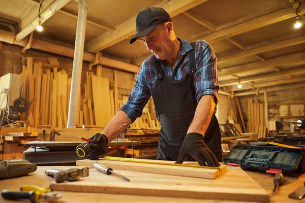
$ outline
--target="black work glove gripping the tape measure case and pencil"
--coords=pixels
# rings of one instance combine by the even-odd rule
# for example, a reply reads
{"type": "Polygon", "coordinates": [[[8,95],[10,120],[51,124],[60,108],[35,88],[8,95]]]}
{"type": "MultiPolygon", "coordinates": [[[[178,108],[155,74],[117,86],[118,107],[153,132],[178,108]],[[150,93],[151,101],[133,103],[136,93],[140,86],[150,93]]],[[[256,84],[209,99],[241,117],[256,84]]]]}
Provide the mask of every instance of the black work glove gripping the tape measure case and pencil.
{"type": "Polygon", "coordinates": [[[93,137],[89,138],[93,142],[87,141],[88,150],[90,153],[89,159],[98,160],[99,155],[105,154],[105,147],[108,144],[108,138],[105,134],[96,133],[93,137]]]}

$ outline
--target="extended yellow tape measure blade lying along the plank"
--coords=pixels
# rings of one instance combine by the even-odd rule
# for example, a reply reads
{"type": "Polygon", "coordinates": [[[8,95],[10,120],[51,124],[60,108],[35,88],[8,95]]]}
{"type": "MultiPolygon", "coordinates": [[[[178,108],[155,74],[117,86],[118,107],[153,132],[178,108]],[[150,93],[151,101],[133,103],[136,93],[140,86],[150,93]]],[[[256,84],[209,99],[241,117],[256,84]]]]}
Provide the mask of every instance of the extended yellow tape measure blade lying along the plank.
{"type": "Polygon", "coordinates": [[[101,156],[102,159],[114,160],[114,161],[127,161],[127,162],[135,162],[135,163],[152,163],[159,165],[175,165],[175,166],[186,166],[186,167],[195,167],[195,168],[211,168],[211,169],[220,169],[219,167],[211,167],[211,166],[201,166],[201,165],[189,165],[189,164],[180,164],[180,163],[163,163],[163,162],[154,162],[148,160],[138,160],[133,158],[122,158],[122,157],[113,157],[113,156],[101,156]]]}

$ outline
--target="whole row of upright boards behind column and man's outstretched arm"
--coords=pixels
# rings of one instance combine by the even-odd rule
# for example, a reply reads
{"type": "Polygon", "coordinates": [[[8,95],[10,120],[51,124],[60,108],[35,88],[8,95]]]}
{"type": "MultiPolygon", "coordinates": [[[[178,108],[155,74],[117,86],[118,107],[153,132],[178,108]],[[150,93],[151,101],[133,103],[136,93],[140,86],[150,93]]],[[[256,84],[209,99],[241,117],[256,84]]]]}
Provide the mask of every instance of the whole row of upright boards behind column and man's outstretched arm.
{"type": "MultiPolygon", "coordinates": [[[[31,126],[52,125],[66,127],[68,120],[71,78],[63,69],[59,69],[56,58],[28,57],[23,59],[22,96],[31,104],[28,112],[20,116],[28,120],[31,126]]],[[[16,71],[17,72],[17,71],[16,71]]],[[[78,125],[106,126],[118,109],[127,101],[123,95],[118,100],[116,71],[114,81],[102,77],[102,66],[97,65],[96,75],[86,73],[85,84],[81,85],[78,110],[75,113],[78,125]]],[[[160,129],[158,120],[151,119],[148,106],[143,114],[132,124],[132,128],[160,129]]]]}

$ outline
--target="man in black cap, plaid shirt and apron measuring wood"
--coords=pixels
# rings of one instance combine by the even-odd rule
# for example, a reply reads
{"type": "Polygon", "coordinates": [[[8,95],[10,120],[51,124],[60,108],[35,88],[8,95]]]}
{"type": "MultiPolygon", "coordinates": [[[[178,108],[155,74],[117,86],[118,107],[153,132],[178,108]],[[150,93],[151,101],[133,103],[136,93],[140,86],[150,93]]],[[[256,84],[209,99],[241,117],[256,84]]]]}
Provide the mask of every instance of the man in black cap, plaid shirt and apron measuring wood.
{"type": "Polygon", "coordinates": [[[115,139],[140,117],[150,96],[161,124],[158,156],[161,160],[196,160],[219,166],[221,132],[215,116],[219,85],[216,56],[205,41],[189,43],[175,36],[169,14],[146,8],[136,18],[137,33],[130,40],[145,43],[153,55],[145,59],[128,101],[102,133],[87,143],[90,158],[105,153],[115,139]]]}

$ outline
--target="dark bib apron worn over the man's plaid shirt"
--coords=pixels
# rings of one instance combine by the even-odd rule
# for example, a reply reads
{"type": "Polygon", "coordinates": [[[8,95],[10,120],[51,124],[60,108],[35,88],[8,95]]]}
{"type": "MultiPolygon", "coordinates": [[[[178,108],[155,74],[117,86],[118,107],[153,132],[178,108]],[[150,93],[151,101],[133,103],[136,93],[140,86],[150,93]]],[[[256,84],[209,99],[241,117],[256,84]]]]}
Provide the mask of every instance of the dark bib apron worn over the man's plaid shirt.
{"type": "MultiPolygon", "coordinates": [[[[180,147],[195,115],[197,107],[194,86],[195,43],[191,45],[193,49],[188,53],[191,73],[184,75],[180,80],[163,76],[160,61],[156,61],[158,79],[151,96],[154,99],[156,116],[161,124],[157,156],[160,160],[177,160],[180,147]]],[[[181,59],[176,66],[177,69],[182,62],[184,59],[181,59]]],[[[218,161],[222,162],[221,131],[215,114],[205,132],[204,142],[218,161]]],[[[195,160],[187,157],[186,161],[195,160]]]]}

